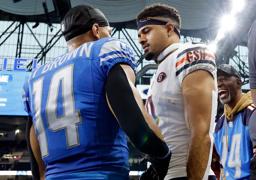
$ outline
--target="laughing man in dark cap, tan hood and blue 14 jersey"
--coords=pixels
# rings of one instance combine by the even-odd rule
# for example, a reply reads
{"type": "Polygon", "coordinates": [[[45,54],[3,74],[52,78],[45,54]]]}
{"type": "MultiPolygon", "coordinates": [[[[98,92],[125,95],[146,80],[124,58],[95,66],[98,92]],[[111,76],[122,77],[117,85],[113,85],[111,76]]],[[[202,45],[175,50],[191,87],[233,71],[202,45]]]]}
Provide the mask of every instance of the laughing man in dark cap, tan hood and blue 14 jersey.
{"type": "MultiPolygon", "coordinates": [[[[214,144],[220,155],[222,179],[250,178],[250,159],[253,156],[250,138],[250,116],[255,111],[251,93],[242,93],[241,75],[233,66],[222,64],[217,68],[218,98],[224,105],[224,114],[214,132],[214,144]]],[[[255,126],[255,125],[254,125],[255,126]]]]}

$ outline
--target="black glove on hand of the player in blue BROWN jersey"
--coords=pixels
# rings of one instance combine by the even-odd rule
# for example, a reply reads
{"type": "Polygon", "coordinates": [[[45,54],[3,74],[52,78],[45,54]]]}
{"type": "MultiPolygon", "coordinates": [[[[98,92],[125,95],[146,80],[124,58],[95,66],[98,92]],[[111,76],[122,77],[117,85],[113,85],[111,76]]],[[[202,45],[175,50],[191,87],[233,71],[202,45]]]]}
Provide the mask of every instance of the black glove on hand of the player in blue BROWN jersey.
{"type": "Polygon", "coordinates": [[[172,153],[170,152],[165,158],[158,158],[156,156],[152,156],[147,154],[139,164],[145,164],[146,162],[150,162],[152,168],[154,168],[159,180],[164,180],[169,168],[169,163],[171,160],[172,153]]]}

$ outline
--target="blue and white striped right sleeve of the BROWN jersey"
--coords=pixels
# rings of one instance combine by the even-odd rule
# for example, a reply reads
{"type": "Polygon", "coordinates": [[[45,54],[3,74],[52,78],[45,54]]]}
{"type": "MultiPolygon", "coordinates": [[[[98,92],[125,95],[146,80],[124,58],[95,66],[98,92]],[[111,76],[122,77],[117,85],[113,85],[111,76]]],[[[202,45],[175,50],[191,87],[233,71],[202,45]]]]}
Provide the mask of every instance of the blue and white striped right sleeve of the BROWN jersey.
{"type": "Polygon", "coordinates": [[[128,64],[136,74],[137,64],[132,49],[116,38],[109,38],[103,45],[99,54],[100,67],[107,77],[110,69],[118,63],[128,64]]]}

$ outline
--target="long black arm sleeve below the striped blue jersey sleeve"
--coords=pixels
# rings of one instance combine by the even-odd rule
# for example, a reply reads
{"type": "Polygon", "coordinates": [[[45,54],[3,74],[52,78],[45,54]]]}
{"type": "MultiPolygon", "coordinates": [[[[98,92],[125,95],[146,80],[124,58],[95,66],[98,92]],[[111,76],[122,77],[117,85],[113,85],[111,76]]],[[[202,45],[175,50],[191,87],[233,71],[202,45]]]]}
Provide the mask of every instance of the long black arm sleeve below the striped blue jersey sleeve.
{"type": "Polygon", "coordinates": [[[146,154],[166,156],[169,148],[148,126],[120,64],[110,70],[105,90],[109,104],[132,144],[146,154]]]}

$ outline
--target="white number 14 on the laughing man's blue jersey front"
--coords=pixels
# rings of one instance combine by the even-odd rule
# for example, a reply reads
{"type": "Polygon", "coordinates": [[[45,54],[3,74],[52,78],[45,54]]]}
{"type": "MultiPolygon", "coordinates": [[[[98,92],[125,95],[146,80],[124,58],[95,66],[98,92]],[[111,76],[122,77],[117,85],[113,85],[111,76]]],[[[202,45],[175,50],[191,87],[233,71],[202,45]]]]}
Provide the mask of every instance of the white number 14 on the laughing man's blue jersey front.
{"type": "MultiPolygon", "coordinates": [[[[226,149],[226,136],[222,136],[222,165],[226,165],[227,160],[227,149],[226,149]]],[[[240,160],[240,143],[241,143],[241,133],[234,134],[232,136],[231,148],[228,157],[228,167],[235,168],[234,178],[240,178],[241,176],[241,160],[240,160]],[[234,160],[233,160],[234,159],[234,160]]],[[[228,176],[228,172],[226,172],[225,176],[228,176]]]]}

